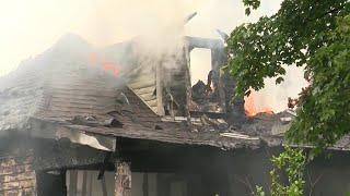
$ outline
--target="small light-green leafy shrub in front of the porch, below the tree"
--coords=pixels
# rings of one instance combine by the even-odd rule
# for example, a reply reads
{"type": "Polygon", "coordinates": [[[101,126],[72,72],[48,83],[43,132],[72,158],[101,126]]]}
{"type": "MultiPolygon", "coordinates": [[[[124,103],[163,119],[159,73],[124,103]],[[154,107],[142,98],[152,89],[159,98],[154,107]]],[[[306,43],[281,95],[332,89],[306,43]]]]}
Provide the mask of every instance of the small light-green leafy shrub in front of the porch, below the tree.
{"type": "MultiPolygon", "coordinates": [[[[271,196],[303,196],[305,181],[304,170],[306,167],[306,157],[302,149],[285,147],[285,151],[278,157],[272,158],[273,169],[270,171],[271,176],[271,196]],[[284,185],[279,175],[282,171],[288,176],[288,183],[284,185]]],[[[262,187],[256,187],[256,196],[265,196],[262,187]]]]}

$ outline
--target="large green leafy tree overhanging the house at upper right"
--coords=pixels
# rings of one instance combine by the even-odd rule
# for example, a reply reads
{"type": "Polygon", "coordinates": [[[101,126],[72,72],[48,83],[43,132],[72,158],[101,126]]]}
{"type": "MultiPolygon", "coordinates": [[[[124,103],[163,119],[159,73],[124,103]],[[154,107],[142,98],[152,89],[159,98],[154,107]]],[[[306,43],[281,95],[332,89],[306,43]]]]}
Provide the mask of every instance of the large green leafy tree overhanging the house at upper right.
{"type": "MultiPolygon", "coordinates": [[[[259,0],[243,2],[247,14],[259,7],[259,0]]],[[[291,142],[322,149],[350,132],[348,0],[284,0],[277,14],[236,27],[226,50],[238,97],[261,89],[266,77],[283,82],[285,65],[305,68],[311,85],[287,133],[291,142]]]]}

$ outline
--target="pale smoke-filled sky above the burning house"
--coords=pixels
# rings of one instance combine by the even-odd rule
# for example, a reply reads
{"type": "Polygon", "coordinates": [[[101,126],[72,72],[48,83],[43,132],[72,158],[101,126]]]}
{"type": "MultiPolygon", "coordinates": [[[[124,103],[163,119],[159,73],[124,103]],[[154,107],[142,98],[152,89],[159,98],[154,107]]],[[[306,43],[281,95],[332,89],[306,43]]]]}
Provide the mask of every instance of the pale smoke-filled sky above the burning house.
{"type": "MultiPolygon", "coordinates": [[[[197,12],[184,34],[220,38],[217,28],[230,34],[244,22],[276,13],[280,2],[262,0],[261,8],[247,17],[242,0],[0,0],[0,76],[44,52],[67,33],[103,47],[155,28],[171,28],[197,12]]],[[[299,75],[293,73],[295,81],[299,75]]],[[[285,90],[282,94],[287,96],[285,90]]]]}

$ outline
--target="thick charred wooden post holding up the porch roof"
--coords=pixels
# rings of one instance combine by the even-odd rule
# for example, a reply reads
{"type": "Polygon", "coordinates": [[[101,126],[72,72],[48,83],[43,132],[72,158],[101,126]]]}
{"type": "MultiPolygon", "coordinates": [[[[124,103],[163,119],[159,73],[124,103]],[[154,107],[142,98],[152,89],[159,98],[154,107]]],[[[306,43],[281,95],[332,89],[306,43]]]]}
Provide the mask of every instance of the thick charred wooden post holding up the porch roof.
{"type": "Polygon", "coordinates": [[[129,162],[116,162],[115,196],[131,196],[131,169],[129,162]]]}

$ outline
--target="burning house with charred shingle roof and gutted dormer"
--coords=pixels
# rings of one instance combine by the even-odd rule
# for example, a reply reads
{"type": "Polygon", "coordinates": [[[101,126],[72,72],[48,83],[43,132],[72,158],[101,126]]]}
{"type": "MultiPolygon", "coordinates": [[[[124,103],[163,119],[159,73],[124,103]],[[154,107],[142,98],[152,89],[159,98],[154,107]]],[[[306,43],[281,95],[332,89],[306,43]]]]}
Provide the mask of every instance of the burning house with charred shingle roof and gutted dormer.
{"type": "MultiPolygon", "coordinates": [[[[292,114],[246,118],[221,72],[223,42],[184,42],[154,61],[132,40],[95,50],[70,35],[0,78],[0,195],[225,196],[266,185],[292,114]],[[211,51],[207,84],[190,84],[194,48],[211,51]]],[[[316,195],[327,183],[349,191],[349,144],[311,167],[316,195]]]]}

